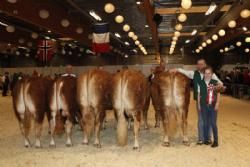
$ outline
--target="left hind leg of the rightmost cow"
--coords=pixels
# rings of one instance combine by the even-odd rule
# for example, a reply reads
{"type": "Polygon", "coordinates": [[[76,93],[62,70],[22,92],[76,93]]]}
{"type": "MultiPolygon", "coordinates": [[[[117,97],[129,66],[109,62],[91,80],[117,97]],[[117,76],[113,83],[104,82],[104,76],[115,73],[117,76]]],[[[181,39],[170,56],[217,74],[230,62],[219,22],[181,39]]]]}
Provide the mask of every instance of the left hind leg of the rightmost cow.
{"type": "Polygon", "coordinates": [[[163,129],[164,129],[164,138],[163,138],[163,144],[162,146],[164,147],[169,147],[169,137],[168,137],[168,131],[169,131],[169,117],[167,115],[167,110],[163,110],[162,113],[162,124],[163,124],[163,129]]]}

